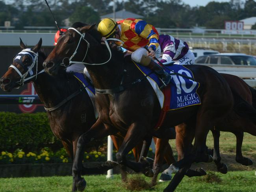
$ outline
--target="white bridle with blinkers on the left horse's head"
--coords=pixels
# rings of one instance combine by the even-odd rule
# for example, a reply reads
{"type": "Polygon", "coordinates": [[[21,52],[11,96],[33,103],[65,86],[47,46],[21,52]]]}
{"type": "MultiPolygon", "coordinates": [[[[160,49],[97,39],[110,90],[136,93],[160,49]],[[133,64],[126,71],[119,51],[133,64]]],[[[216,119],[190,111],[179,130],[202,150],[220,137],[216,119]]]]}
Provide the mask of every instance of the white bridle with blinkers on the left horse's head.
{"type": "MultiPolygon", "coordinates": [[[[33,52],[31,49],[27,48],[22,50],[21,52],[19,52],[16,56],[15,59],[13,60],[15,61],[15,63],[18,63],[20,66],[22,66],[22,68],[24,69],[24,71],[26,71],[24,74],[22,74],[19,69],[14,66],[13,64],[11,64],[11,66],[9,66],[9,68],[13,68],[20,76],[20,80],[17,81],[16,83],[19,84],[19,87],[22,87],[24,85],[25,81],[28,81],[29,79],[32,79],[35,77],[35,79],[37,79],[37,75],[43,73],[45,70],[41,70],[39,73],[37,73],[37,68],[38,68],[38,52],[35,53],[33,52]],[[28,55],[30,58],[33,59],[32,64],[27,67],[22,63],[22,57],[24,57],[24,55],[28,55]],[[35,75],[33,75],[33,67],[36,64],[36,72],[35,75]],[[28,78],[26,78],[29,75],[28,78]]],[[[17,88],[19,88],[17,87],[17,88]]]]}

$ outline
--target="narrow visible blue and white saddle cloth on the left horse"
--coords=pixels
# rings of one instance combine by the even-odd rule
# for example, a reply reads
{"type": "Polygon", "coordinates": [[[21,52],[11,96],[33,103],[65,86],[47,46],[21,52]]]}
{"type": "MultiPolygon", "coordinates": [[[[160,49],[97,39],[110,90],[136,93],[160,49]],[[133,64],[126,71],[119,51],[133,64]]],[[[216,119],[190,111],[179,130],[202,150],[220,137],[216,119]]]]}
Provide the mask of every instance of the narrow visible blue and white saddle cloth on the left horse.
{"type": "Polygon", "coordinates": [[[85,78],[84,74],[82,73],[74,73],[74,77],[80,82],[82,83],[83,87],[85,87],[85,90],[87,92],[87,94],[89,95],[89,97],[91,98],[91,102],[93,104],[93,109],[94,109],[94,114],[95,114],[95,118],[98,118],[98,111],[96,110],[96,106],[95,106],[95,89],[92,83],[89,83],[88,80],[85,78]]]}

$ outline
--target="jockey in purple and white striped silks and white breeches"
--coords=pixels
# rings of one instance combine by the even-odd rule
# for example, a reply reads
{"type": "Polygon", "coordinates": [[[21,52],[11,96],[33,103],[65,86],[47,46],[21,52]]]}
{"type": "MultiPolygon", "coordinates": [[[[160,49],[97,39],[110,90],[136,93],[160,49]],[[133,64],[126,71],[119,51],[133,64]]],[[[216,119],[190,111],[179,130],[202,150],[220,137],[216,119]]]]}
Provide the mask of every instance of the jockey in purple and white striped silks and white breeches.
{"type": "Polygon", "coordinates": [[[178,65],[193,65],[195,63],[195,56],[189,50],[186,42],[175,39],[171,35],[159,35],[159,45],[156,50],[156,55],[161,63],[170,63],[175,61],[174,64],[178,65]],[[160,52],[163,52],[160,57],[160,52]]]}

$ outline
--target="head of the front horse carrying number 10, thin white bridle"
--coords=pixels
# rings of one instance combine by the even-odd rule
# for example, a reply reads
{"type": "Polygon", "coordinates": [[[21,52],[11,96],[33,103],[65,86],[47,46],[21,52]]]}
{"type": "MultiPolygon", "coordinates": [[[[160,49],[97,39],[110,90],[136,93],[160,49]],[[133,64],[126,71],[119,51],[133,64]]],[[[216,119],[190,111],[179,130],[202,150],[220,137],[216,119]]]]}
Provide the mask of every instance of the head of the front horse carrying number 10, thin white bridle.
{"type": "Polygon", "coordinates": [[[95,25],[81,23],[80,27],[69,28],[43,63],[45,72],[57,75],[61,67],[90,62],[89,55],[95,53],[92,50],[95,51],[96,46],[100,45],[100,40],[101,35],[95,25]]]}

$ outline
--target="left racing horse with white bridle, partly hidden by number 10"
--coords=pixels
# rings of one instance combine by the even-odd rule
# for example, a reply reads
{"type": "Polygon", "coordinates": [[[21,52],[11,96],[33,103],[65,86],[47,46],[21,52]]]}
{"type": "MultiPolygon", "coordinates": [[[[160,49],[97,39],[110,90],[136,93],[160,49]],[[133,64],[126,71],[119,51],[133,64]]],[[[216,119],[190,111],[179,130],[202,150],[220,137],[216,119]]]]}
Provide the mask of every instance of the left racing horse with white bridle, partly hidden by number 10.
{"type": "MultiPolygon", "coordinates": [[[[4,76],[0,78],[0,85],[3,90],[10,92],[13,88],[22,86],[23,83],[29,83],[31,81],[33,82],[39,98],[46,108],[52,132],[61,140],[65,150],[73,160],[76,153],[76,144],[78,138],[96,121],[94,114],[95,111],[93,109],[92,101],[85,91],[81,91],[78,95],[70,98],[71,102],[62,102],[65,100],[65,98],[72,95],[73,92],[80,90],[80,84],[72,73],[67,73],[64,70],[62,70],[61,74],[59,74],[57,77],[49,76],[44,72],[43,61],[45,60],[46,55],[43,50],[40,49],[41,43],[42,42],[40,40],[36,46],[28,50],[20,39],[20,47],[22,48],[23,56],[18,60],[15,59],[12,64],[12,66],[15,66],[21,74],[26,74],[29,72],[35,75],[21,81],[19,73],[14,70],[13,67],[10,67],[4,76]],[[30,57],[31,55],[38,55],[38,57],[33,59],[30,57]],[[35,63],[33,63],[33,60],[35,63]],[[52,82],[54,82],[54,85],[51,84],[52,82]],[[83,102],[81,102],[81,100],[83,102]],[[59,103],[62,103],[62,105],[59,105],[59,103]],[[84,116],[87,117],[86,121],[79,119],[84,116]],[[70,117],[77,118],[76,122],[74,123],[72,120],[70,120],[70,117]]],[[[116,135],[111,135],[111,138],[115,148],[118,150],[124,135],[122,133],[118,133],[116,135]]],[[[156,142],[156,138],[154,138],[154,140],[156,142]]],[[[142,143],[139,143],[133,149],[135,161],[139,161],[141,147],[142,143]]],[[[171,163],[175,162],[175,159],[173,157],[171,146],[168,144],[166,148],[168,153],[165,153],[164,158],[167,164],[170,165],[171,163]]],[[[147,151],[145,151],[143,155],[146,156],[147,151]]],[[[87,174],[103,174],[106,172],[106,170],[112,168],[114,165],[115,164],[112,164],[112,162],[107,162],[106,164],[98,166],[96,169],[84,169],[83,172],[87,174]]],[[[122,179],[125,180],[125,167],[121,167],[121,170],[122,179]]]]}

